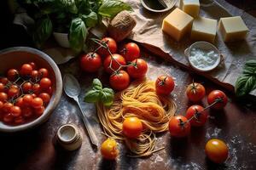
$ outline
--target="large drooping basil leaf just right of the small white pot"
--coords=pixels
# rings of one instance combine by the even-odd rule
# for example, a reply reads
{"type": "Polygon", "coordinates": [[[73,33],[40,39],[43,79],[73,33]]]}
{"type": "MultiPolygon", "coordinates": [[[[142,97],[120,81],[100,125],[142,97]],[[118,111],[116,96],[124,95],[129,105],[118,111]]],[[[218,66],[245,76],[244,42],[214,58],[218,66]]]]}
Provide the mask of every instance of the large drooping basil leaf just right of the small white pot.
{"type": "Polygon", "coordinates": [[[87,37],[88,31],[84,25],[84,21],[80,18],[72,20],[69,28],[69,43],[71,48],[76,52],[82,51],[84,48],[84,40],[87,37]]]}

